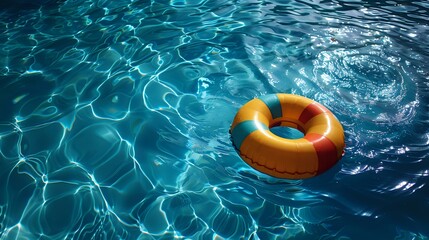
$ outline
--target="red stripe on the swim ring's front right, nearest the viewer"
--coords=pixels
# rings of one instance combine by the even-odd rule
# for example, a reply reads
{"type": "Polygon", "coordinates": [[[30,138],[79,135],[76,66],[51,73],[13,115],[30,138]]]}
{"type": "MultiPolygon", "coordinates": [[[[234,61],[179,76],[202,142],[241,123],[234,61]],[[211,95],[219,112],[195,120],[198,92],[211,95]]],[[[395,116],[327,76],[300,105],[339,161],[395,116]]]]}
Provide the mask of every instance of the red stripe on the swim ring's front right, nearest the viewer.
{"type": "Polygon", "coordinates": [[[316,149],[317,158],[319,159],[317,174],[325,172],[338,161],[337,148],[329,138],[317,133],[307,134],[304,138],[313,143],[316,149]]]}

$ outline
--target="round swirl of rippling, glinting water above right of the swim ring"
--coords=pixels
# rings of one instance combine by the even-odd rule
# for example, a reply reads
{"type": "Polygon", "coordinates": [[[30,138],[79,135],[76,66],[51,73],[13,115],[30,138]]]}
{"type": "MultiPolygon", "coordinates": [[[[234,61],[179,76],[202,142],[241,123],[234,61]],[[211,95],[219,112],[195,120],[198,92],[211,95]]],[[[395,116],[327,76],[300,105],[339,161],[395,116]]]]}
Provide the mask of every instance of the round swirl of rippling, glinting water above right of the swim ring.
{"type": "Polygon", "coordinates": [[[339,111],[378,123],[398,123],[413,116],[412,81],[396,59],[337,49],[314,62],[316,83],[340,99],[339,111]]]}

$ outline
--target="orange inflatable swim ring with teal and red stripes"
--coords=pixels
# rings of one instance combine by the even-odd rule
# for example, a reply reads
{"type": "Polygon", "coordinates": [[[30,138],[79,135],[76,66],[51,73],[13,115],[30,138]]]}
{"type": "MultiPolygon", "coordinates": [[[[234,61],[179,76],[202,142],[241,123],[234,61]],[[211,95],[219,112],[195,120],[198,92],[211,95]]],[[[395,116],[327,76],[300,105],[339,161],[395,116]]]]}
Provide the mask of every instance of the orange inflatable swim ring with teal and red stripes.
{"type": "Polygon", "coordinates": [[[319,175],[344,153],[344,130],[331,111],[292,94],[271,94],[249,101],[235,116],[230,133],[247,164],[279,178],[319,175]],[[304,137],[279,137],[270,131],[275,126],[296,128],[304,137]]]}

